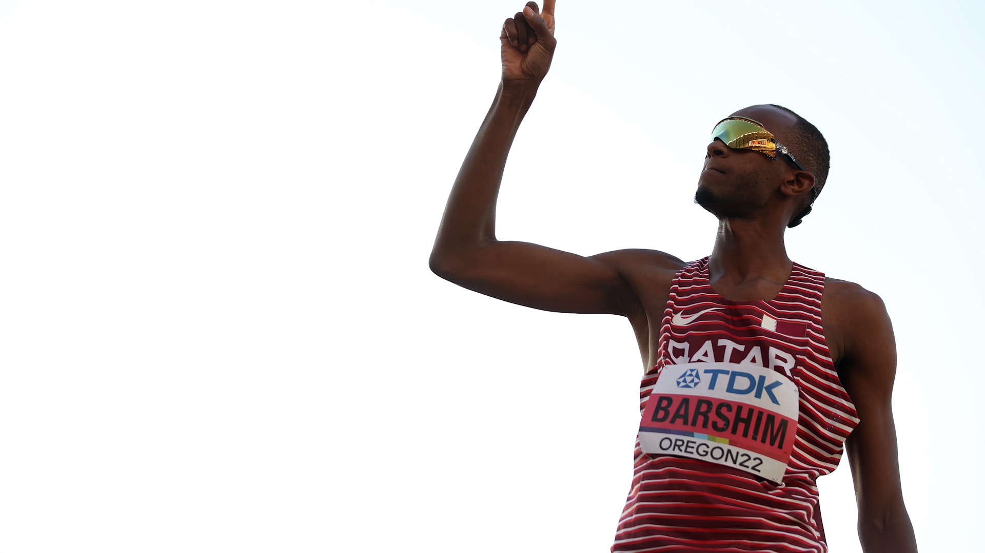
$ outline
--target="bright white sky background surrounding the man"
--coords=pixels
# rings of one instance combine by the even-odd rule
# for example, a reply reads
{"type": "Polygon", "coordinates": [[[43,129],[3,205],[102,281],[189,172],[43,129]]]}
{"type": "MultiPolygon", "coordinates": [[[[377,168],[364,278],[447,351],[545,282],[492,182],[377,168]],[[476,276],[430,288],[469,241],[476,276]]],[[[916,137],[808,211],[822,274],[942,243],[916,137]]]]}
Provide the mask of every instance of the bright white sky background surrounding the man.
{"type": "MultiPolygon", "coordinates": [[[[628,325],[427,270],[522,6],[0,2],[0,552],[608,550],[628,325]]],[[[696,259],[711,126],[818,125],[788,251],[886,300],[924,551],[985,518],[983,11],[561,0],[498,209],[503,239],[696,259]]],[[[847,462],[821,499],[859,551],[847,462]]]]}

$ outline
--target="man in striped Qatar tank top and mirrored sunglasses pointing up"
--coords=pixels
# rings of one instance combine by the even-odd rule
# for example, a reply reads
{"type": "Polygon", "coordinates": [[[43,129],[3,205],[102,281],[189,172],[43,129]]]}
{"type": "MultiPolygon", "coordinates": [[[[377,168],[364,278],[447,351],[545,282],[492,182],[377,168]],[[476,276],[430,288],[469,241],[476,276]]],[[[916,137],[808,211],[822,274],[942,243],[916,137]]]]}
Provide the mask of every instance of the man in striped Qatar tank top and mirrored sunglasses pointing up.
{"type": "Polygon", "coordinates": [[[591,257],[495,239],[510,144],[551,65],[554,0],[500,33],[502,79],[452,188],[431,253],[439,276],[538,309],[628,318],[646,370],[634,477],[612,550],[826,551],[816,480],[847,444],[867,552],[916,551],[890,397],[882,300],[791,262],[783,233],[810,212],[826,143],[792,111],[715,126],[697,201],[719,219],[708,258],[591,257]]]}

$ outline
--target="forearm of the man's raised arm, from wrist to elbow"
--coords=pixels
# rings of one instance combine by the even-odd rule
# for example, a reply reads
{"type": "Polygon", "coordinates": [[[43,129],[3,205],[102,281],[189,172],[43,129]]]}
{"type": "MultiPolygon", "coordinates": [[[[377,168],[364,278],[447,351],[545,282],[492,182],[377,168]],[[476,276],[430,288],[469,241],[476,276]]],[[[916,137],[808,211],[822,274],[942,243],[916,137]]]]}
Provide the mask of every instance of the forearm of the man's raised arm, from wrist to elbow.
{"type": "Polygon", "coordinates": [[[502,83],[448,196],[431,251],[431,266],[495,237],[495,205],[503,169],[536,88],[502,83]]]}

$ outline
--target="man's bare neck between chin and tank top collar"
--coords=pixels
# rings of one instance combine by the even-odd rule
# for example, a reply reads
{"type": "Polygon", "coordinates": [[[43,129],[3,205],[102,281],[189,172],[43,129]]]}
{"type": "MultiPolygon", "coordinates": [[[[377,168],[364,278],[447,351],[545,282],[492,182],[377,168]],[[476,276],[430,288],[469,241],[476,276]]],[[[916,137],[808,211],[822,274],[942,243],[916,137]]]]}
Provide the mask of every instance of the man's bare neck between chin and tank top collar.
{"type": "MultiPolygon", "coordinates": [[[[793,263],[783,243],[783,227],[764,225],[761,220],[729,220],[718,223],[715,247],[708,272],[719,294],[768,295],[772,286],[782,287],[793,263]]],[[[772,297],[772,296],[770,296],[772,297]]],[[[769,298],[749,298],[769,299],[769,298]]]]}

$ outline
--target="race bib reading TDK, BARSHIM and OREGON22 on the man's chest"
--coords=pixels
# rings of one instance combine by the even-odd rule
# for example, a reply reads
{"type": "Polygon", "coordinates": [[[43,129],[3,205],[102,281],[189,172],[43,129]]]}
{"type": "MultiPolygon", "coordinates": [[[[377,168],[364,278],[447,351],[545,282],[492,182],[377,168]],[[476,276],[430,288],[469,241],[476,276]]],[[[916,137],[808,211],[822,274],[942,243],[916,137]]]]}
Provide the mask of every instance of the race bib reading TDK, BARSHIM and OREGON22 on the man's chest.
{"type": "Polygon", "coordinates": [[[717,462],[779,483],[790,461],[797,385],[753,364],[666,365],[639,423],[648,454],[717,462]]]}

